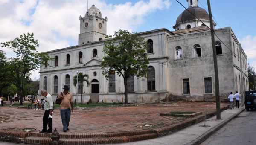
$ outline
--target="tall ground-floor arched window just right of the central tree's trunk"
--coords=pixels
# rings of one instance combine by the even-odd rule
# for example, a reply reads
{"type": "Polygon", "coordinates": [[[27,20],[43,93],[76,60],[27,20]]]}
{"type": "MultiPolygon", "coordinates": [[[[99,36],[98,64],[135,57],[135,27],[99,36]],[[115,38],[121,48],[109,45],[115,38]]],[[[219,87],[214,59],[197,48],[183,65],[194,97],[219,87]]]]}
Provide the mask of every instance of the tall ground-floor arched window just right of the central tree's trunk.
{"type": "Polygon", "coordinates": [[[155,81],[155,70],[154,67],[149,66],[148,67],[148,91],[154,91],[156,90],[156,81],[155,81]]]}

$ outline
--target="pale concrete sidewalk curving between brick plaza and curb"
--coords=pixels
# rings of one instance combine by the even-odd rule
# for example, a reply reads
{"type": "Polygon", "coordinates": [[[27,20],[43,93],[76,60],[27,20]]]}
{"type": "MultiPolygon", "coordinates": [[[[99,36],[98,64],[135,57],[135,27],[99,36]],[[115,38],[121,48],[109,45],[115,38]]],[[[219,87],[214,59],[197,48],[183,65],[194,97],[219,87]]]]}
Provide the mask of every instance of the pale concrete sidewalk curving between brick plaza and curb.
{"type": "Polygon", "coordinates": [[[210,136],[243,110],[243,107],[233,110],[224,110],[221,112],[221,120],[216,120],[216,116],[207,119],[206,125],[209,125],[210,127],[199,127],[204,125],[204,122],[200,122],[167,136],[138,142],[123,143],[120,145],[198,145],[201,141],[207,139],[207,136],[210,136]]]}

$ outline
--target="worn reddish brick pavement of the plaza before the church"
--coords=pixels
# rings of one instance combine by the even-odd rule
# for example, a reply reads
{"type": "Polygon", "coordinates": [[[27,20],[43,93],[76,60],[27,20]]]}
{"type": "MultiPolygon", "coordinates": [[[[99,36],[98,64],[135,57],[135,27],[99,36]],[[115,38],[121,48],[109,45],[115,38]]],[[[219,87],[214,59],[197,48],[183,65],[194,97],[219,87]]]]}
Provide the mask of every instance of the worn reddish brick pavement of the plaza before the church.
{"type": "MultiPolygon", "coordinates": [[[[221,103],[221,107],[225,106],[227,104],[221,103]]],[[[215,103],[180,102],[74,110],[71,114],[70,131],[67,133],[142,131],[164,128],[184,120],[184,118],[159,115],[160,113],[171,111],[212,113],[215,111],[215,103]],[[150,124],[151,126],[145,127],[145,124],[150,124]]],[[[43,114],[44,110],[0,107],[0,131],[4,129],[9,131],[40,131],[42,129],[43,114]]],[[[57,128],[60,133],[65,134],[62,132],[61,116],[58,109],[54,110],[53,128],[57,128]]]]}

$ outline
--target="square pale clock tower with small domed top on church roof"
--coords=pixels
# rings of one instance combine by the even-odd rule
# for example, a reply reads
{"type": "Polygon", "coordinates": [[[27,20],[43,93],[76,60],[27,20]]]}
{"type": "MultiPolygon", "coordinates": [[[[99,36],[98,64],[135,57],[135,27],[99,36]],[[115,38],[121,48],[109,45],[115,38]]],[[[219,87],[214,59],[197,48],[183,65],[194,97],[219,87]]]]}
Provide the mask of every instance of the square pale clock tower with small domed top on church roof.
{"type": "Polygon", "coordinates": [[[80,34],[78,44],[87,44],[105,39],[108,18],[102,18],[102,13],[95,5],[87,10],[84,17],[80,16],[80,34]]]}

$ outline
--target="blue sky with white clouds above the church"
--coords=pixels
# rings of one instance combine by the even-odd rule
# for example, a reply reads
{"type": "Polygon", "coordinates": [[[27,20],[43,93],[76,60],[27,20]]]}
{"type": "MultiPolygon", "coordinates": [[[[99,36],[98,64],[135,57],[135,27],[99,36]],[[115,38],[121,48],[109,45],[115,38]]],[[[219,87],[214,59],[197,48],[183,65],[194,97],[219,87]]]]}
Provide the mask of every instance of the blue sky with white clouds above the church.
{"type": "MultiPolygon", "coordinates": [[[[179,0],[188,6],[186,0],[179,0]]],[[[79,16],[84,17],[87,5],[95,5],[108,17],[107,34],[119,29],[143,32],[153,29],[174,29],[184,8],[176,0],[0,0],[0,42],[13,40],[20,34],[33,32],[39,41],[39,52],[78,44],[79,16]]],[[[212,14],[218,25],[232,27],[250,66],[256,68],[256,1],[211,0],[212,14]]],[[[199,0],[207,9],[207,0],[199,0]]],[[[6,57],[15,57],[9,48],[0,47],[6,57]]],[[[38,70],[32,80],[39,78],[38,70]]]]}

